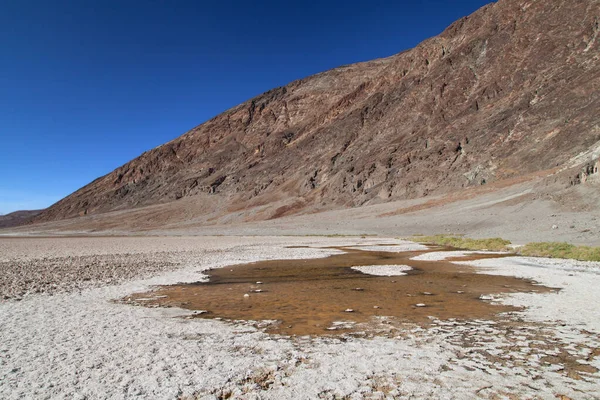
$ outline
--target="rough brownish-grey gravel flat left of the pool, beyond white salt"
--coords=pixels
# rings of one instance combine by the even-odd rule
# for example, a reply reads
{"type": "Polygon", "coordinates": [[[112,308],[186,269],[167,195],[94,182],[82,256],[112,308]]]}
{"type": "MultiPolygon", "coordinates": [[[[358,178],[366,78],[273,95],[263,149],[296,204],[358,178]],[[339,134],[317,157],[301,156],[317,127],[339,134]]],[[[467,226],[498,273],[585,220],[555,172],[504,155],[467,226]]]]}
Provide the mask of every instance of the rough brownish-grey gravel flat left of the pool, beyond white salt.
{"type": "Polygon", "coordinates": [[[235,252],[235,247],[240,244],[264,240],[214,237],[0,238],[0,299],[22,299],[36,293],[55,294],[149,278],[191,265],[209,253],[235,252]]]}

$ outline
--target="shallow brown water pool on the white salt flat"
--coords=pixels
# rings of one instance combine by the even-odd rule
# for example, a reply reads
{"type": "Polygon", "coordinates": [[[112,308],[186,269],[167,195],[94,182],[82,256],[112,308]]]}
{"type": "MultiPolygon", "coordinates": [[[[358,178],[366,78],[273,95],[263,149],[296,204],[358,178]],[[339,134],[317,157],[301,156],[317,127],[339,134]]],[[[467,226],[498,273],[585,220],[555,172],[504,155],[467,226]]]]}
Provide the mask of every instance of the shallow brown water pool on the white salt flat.
{"type": "MultiPolygon", "coordinates": [[[[411,260],[427,251],[340,250],[345,253],[327,258],[261,261],[214,269],[207,272],[208,282],[162,286],[123,301],[207,311],[199,314],[200,318],[278,320],[281,323],[268,331],[319,335],[339,333],[327,329],[334,321],[362,323],[373,316],[415,323],[426,323],[429,316],[493,318],[515,308],[491,304],[481,300],[481,295],[551,290],[524,279],[475,273],[471,267],[449,261],[411,260]],[[385,277],[350,268],[390,264],[409,265],[413,270],[405,276],[385,277]]],[[[452,260],[497,257],[476,254],[452,260]]]]}

